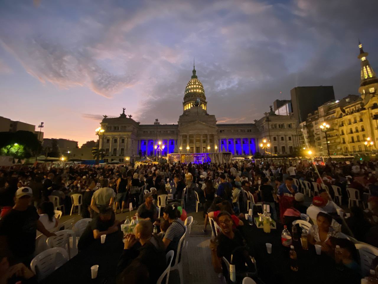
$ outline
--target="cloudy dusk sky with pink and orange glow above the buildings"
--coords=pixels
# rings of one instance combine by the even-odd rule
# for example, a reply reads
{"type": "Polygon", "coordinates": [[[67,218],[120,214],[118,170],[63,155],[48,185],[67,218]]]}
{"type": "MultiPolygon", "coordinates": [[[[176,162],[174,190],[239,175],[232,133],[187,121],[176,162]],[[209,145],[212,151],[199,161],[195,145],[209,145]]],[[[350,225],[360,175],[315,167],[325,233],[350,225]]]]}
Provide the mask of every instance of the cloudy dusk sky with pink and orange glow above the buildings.
{"type": "Polygon", "coordinates": [[[296,86],[358,94],[378,70],[376,0],[0,0],[0,116],[96,139],[102,115],[177,123],[195,69],[218,123],[253,123],[296,86]]]}

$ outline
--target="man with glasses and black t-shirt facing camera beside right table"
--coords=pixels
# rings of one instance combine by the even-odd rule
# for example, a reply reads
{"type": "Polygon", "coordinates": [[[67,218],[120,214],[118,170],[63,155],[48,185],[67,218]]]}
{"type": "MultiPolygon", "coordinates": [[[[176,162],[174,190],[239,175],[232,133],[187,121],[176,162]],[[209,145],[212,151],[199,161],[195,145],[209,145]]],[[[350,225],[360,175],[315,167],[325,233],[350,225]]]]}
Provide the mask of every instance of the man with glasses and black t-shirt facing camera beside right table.
{"type": "Polygon", "coordinates": [[[248,265],[249,270],[251,270],[254,265],[249,257],[248,248],[237,251],[235,253],[235,248],[245,247],[246,242],[239,230],[232,228],[232,217],[226,211],[220,211],[218,214],[218,223],[222,230],[222,234],[218,234],[215,240],[210,240],[210,250],[211,250],[211,263],[214,267],[216,273],[228,273],[226,267],[222,262],[222,257],[225,257],[229,262],[231,262],[231,254],[233,257],[233,264],[235,264],[236,272],[246,272],[248,269],[245,263],[248,265]],[[236,254],[236,255],[235,255],[236,254]]]}

